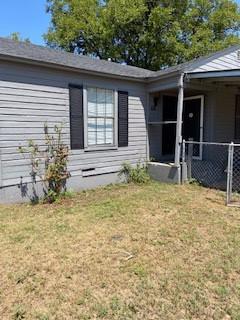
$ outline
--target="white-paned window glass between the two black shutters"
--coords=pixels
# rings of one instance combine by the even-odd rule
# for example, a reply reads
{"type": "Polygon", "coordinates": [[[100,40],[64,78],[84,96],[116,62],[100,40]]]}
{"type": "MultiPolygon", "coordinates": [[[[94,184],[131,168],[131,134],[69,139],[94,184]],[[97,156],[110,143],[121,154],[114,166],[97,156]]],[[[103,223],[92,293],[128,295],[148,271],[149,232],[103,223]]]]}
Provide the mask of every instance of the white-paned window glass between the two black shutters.
{"type": "Polygon", "coordinates": [[[115,91],[87,88],[87,146],[114,146],[115,91]]]}

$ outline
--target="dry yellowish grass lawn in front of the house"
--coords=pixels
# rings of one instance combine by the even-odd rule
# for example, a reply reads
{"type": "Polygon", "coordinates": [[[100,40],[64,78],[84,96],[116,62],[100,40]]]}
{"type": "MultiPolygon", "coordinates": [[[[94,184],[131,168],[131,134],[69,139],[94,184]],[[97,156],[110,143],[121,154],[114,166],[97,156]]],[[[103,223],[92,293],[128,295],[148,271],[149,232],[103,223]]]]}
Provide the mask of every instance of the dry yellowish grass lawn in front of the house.
{"type": "Polygon", "coordinates": [[[151,182],[0,206],[1,319],[240,319],[240,210],[151,182]]]}

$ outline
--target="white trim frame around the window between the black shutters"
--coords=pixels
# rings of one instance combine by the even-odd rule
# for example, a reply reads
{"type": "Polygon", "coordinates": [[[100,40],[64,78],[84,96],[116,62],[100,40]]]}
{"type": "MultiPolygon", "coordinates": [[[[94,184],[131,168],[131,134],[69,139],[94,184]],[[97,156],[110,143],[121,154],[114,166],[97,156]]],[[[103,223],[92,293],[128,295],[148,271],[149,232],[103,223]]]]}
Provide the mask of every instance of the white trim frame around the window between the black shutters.
{"type": "Polygon", "coordinates": [[[84,125],[84,151],[104,151],[118,149],[118,92],[112,88],[103,88],[96,85],[83,86],[83,125],[84,125]],[[88,145],[88,88],[97,88],[104,90],[112,90],[114,93],[114,128],[113,128],[113,144],[88,145]]]}

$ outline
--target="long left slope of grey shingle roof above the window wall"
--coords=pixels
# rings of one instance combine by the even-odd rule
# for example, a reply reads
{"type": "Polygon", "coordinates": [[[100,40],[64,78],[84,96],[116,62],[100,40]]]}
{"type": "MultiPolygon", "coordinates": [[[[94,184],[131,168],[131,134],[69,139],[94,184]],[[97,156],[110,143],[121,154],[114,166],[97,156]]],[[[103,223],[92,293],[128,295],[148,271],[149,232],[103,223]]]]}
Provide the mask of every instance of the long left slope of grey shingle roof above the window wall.
{"type": "Polygon", "coordinates": [[[153,71],[142,68],[94,59],[87,56],[80,56],[73,53],[1,37],[0,57],[20,58],[39,63],[48,63],[56,66],[64,66],[134,79],[144,79],[154,74],[153,71]]]}

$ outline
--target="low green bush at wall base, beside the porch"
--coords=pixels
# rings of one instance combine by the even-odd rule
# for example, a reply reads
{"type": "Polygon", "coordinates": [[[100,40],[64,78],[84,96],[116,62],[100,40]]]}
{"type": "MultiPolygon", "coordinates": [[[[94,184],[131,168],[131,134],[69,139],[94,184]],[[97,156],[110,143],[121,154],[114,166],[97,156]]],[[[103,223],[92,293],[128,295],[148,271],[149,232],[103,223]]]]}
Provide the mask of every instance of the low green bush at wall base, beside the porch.
{"type": "Polygon", "coordinates": [[[124,162],[119,172],[119,176],[123,176],[127,183],[144,184],[150,180],[146,164],[142,164],[140,161],[138,161],[135,167],[128,162],[124,162]]]}

